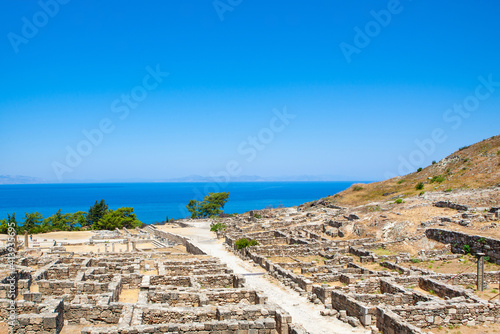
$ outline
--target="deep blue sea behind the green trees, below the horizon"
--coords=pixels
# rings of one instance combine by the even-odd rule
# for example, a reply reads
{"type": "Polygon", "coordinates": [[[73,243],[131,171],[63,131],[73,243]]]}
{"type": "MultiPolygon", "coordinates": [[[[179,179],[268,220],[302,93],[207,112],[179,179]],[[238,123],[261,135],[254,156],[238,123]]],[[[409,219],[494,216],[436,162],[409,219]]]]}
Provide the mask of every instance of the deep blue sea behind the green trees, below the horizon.
{"type": "Polygon", "coordinates": [[[266,207],[295,206],[333,195],[355,182],[235,182],[216,183],[96,183],[0,185],[0,219],[16,213],[40,212],[48,217],[62,213],[88,211],[104,199],[111,209],[133,207],[146,224],[189,216],[190,199],[202,200],[209,192],[228,191],[225,213],[243,213],[266,207]]]}

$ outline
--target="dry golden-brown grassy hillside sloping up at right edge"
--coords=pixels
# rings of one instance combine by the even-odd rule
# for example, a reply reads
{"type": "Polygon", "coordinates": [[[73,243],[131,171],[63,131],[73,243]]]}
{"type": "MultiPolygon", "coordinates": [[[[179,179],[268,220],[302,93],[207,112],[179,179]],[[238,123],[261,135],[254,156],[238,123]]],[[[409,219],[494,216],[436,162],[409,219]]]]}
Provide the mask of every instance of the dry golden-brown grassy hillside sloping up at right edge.
{"type": "Polygon", "coordinates": [[[337,205],[362,205],[394,200],[421,192],[481,189],[500,184],[500,136],[463,147],[420,172],[370,184],[355,184],[325,198],[337,205]],[[423,183],[423,189],[416,189],[423,183]]]}

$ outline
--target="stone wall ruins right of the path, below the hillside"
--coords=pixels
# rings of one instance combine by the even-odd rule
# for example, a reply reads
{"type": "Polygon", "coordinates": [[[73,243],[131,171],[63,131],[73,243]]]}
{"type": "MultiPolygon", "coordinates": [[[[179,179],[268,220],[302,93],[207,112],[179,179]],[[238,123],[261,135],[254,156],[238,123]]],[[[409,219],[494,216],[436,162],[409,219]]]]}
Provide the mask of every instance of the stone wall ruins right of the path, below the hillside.
{"type": "MultiPolygon", "coordinates": [[[[338,216],[342,214],[337,211],[338,216]]],[[[393,241],[342,239],[339,227],[359,217],[346,215],[340,221],[331,216],[311,217],[287,209],[267,219],[251,215],[227,219],[225,243],[311,302],[323,304],[322,315],[372,333],[417,334],[455,325],[500,323],[499,298],[482,299],[471,289],[477,284],[477,274],[439,274],[414,265],[462,261],[464,245],[469,245],[472,254],[482,252],[490,262],[500,264],[500,240],[442,229],[393,241]],[[235,242],[240,238],[256,240],[258,245],[238,250],[235,242]],[[420,250],[417,257],[374,251],[424,238],[446,246],[420,250]]],[[[486,287],[498,288],[499,279],[499,271],[484,273],[486,287]]]]}

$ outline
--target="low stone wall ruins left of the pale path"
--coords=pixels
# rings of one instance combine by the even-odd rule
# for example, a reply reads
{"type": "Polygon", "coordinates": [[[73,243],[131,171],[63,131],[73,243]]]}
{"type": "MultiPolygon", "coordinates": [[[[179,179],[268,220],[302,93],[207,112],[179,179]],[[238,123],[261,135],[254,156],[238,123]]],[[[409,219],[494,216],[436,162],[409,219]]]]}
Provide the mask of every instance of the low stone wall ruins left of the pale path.
{"type": "Polygon", "coordinates": [[[0,257],[0,322],[9,320],[15,275],[13,333],[57,334],[65,327],[82,334],[294,332],[290,315],[246,288],[242,276],[185,238],[148,229],[186,252],[52,249],[39,256],[20,250],[13,273],[7,256],[0,257]]]}

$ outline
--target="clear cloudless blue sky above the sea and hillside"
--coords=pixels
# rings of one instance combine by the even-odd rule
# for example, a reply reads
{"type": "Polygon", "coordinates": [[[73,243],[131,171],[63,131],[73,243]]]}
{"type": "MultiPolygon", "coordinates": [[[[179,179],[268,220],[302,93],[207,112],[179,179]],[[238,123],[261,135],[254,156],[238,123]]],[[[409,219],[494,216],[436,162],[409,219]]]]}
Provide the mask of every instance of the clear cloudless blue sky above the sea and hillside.
{"type": "Polygon", "coordinates": [[[2,7],[0,174],[379,180],[500,134],[498,1],[2,7]]]}

